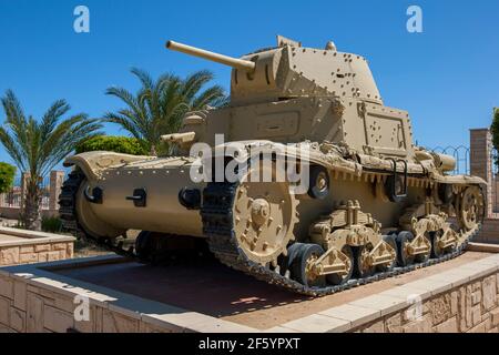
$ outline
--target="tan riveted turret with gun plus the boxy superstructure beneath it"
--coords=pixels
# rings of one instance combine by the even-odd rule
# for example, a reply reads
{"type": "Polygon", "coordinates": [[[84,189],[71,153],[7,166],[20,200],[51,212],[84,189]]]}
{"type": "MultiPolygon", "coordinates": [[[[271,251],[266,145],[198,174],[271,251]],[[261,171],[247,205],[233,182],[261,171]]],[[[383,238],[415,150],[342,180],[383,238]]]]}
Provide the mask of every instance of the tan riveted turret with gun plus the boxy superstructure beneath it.
{"type": "Polygon", "coordinates": [[[173,41],[166,47],[233,68],[230,108],[185,118],[182,132],[195,132],[192,143],[214,144],[214,134],[224,133],[230,140],[329,141],[363,154],[414,155],[408,113],[385,106],[367,60],[338,52],[333,42],[320,50],[278,36],[277,47],[241,59],[173,41]]]}

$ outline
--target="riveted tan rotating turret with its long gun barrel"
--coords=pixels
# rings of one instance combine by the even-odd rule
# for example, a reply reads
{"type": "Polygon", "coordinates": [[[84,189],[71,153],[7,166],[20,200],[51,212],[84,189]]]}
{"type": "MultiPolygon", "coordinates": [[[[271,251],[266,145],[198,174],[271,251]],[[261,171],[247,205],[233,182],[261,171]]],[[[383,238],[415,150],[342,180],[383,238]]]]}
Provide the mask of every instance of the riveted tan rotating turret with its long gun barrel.
{"type": "Polygon", "coordinates": [[[166,48],[233,67],[231,103],[272,102],[299,97],[356,98],[383,104],[364,57],[277,37],[277,47],[231,58],[169,41],[166,48]]]}

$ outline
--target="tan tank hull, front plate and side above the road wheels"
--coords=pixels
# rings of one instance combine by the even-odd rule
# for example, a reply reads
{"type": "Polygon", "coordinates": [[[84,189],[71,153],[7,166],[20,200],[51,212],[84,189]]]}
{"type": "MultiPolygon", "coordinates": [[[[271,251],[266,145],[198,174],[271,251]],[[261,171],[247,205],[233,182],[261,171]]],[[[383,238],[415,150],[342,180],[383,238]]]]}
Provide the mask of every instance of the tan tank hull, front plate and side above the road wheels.
{"type": "MultiPolygon", "coordinates": [[[[266,145],[265,149],[275,148],[266,145]]],[[[289,151],[297,155],[296,151],[289,151]]],[[[77,156],[92,165],[96,154],[77,156]]],[[[322,164],[328,172],[328,194],[322,199],[312,199],[306,193],[296,194],[296,212],[299,223],[295,226],[294,237],[298,241],[308,237],[309,225],[320,215],[327,215],[345,201],[359,201],[363,211],[369,213],[384,229],[396,229],[399,220],[411,205],[422,204],[428,191],[437,185],[451,183],[456,186],[480,184],[482,180],[472,176],[435,176],[424,175],[420,166],[409,165],[413,172],[407,182],[407,196],[400,202],[389,201],[386,195],[386,181],[393,174],[389,166],[373,169],[373,164],[357,164],[337,156],[330,156],[316,150],[307,151],[309,164],[322,164]],[[328,162],[328,163],[327,163],[328,162]],[[437,179],[438,178],[438,179],[437,179]]],[[[284,158],[283,158],[284,159],[284,158]]],[[[126,230],[146,230],[166,234],[206,236],[198,209],[185,207],[179,199],[183,189],[202,192],[206,182],[195,182],[191,178],[194,159],[184,156],[169,159],[138,160],[118,166],[108,166],[101,171],[86,170],[85,181],[80,186],[78,213],[85,229],[94,234],[118,236],[126,230]],[[85,190],[99,187],[103,191],[100,203],[85,199],[85,190]],[[146,193],[145,205],[136,206],[130,199],[136,189],[146,193]],[[86,221],[86,222],[85,222],[86,221]],[[94,225],[99,224],[96,229],[94,225]],[[106,226],[109,229],[106,229],[106,226]]],[[[78,162],[79,169],[84,169],[78,162]]],[[[400,172],[399,172],[400,173],[400,172]]],[[[434,193],[435,194],[435,193],[434,193]]],[[[438,196],[431,196],[438,200],[438,196]]],[[[437,205],[441,202],[436,201],[437,205]]],[[[455,213],[452,211],[451,213],[455,213]]]]}

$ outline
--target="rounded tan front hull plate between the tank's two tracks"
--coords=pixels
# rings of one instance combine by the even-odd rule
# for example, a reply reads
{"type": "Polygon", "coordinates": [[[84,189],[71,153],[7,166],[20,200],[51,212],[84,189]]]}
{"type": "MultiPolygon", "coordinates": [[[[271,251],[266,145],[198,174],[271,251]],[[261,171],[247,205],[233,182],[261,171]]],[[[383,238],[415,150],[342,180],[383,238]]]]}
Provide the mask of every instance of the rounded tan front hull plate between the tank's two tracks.
{"type": "Polygon", "coordinates": [[[203,236],[198,211],[186,209],[179,200],[182,189],[202,191],[205,186],[190,178],[192,160],[145,159],[99,170],[93,164],[96,156],[73,158],[85,176],[79,186],[77,213],[88,232],[108,237],[119,236],[126,230],[203,236]],[[88,162],[86,166],[81,160],[88,162]],[[102,191],[98,203],[86,197],[94,189],[102,191]],[[136,190],[145,193],[143,205],[136,205],[132,200],[136,190]]]}

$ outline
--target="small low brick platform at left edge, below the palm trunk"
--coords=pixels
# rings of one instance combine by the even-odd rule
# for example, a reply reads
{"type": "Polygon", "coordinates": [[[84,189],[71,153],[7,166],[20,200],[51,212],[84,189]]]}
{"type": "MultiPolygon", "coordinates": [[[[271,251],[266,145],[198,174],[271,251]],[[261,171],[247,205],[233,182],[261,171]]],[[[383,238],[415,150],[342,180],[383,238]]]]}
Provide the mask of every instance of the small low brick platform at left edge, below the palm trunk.
{"type": "Polygon", "coordinates": [[[0,266],[73,257],[74,237],[0,227],[0,266]]]}

